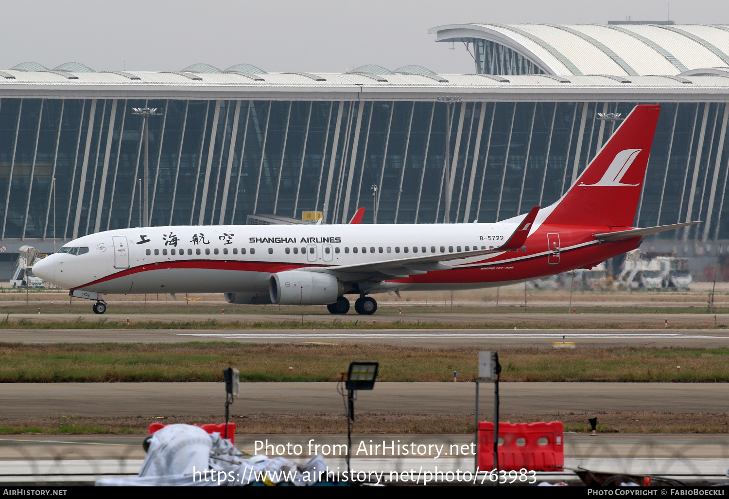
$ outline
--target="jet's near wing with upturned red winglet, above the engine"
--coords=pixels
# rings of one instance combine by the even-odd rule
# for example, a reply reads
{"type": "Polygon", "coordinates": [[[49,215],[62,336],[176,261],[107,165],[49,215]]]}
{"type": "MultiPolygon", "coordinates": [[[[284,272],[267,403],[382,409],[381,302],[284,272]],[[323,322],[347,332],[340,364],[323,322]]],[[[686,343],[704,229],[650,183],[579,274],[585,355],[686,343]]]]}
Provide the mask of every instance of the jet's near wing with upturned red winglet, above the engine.
{"type": "Polygon", "coordinates": [[[453,253],[440,253],[439,255],[424,255],[418,257],[398,258],[380,262],[357,263],[354,265],[341,265],[321,268],[323,271],[333,271],[337,274],[383,274],[383,276],[409,276],[413,274],[426,274],[428,271],[447,270],[452,268],[455,262],[452,260],[469,258],[480,255],[489,255],[495,252],[518,250],[526,242],[529,236],[531,224],[539,212],[539,206],[531,209],[531,212],[518,224],[509,239],[499,247],[489,250],[473,250],[453,253]]]}

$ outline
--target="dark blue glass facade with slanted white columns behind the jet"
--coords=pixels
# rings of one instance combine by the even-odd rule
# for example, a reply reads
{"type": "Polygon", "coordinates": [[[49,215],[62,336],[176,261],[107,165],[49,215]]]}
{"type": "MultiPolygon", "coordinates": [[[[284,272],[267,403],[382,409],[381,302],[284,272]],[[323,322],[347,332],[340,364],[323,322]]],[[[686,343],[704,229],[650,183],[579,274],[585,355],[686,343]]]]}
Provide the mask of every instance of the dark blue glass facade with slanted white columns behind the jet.
{"type": "MultiPolygon", "coordinates": [[[[323,211],[346,223],[494,222],[552,203],[636,102],[2,98],[1,238],[138,226],[149,119],[152,225],[323,211]],[[52,179],[55,178],[55,192],[52,179]]],[[[636,225],[729,239],[727,104],[663,103],[636,225]]]]}

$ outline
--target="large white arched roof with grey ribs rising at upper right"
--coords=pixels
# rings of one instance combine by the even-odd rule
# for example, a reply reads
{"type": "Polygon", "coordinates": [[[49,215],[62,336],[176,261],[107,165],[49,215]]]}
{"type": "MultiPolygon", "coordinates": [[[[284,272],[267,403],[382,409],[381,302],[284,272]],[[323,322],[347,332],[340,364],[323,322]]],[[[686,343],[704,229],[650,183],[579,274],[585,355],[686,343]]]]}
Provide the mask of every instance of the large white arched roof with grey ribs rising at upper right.
{"type": "Polygon", "coordinates": [[[521,53],[547,74],[618,77],[729,68],[729,26],[686,24],[492,24],[429,29],[437,42],[486,39],[521,53]]]}

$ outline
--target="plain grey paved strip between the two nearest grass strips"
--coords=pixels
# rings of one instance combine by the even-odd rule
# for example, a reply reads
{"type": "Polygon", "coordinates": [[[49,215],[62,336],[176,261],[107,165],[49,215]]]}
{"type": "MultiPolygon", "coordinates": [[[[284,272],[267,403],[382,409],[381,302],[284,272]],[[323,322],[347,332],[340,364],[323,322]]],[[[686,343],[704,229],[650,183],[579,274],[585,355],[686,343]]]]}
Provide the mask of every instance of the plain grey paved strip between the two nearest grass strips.
{"type": "MultiPolygon", "coordinates": [[[[502,383],[504,414],[556,411],[729,412],[725,383],[502,383]]],[[[491,403],[491,385],[481,393],[491,403]]],[[[381,382],[359,391],[357,411],[425,414],[474,410],[475,384],[381,382]]],[[[2,383],[1,417],[219,415],[222,383],[2,383]]],[[[335,383],[243,383],[232,414],[340,414],[335,383]]]]}

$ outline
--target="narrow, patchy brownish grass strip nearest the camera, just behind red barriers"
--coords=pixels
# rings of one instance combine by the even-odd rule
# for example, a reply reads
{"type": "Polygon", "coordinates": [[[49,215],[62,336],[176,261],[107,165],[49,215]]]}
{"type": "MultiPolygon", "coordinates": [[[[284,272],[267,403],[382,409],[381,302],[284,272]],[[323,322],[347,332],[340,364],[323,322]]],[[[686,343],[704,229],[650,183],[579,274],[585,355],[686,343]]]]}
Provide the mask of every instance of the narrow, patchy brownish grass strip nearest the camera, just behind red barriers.
{"type": "MultiPolygon", "coordinates": [[[[506,422],[561,421],[566,432],[589,433],[588,418],[598,418],[599,433],[729,433],[729,414],[644,412],[569,412],[552,414],[501,414],[506,422]]],[[[491,419],[484,412],[481,420],[491,419]]],[[[225,421],[225,416],[168,415],[161,417],[5,417],[0,418],[0,435],[146,435],[151,423],[204,425],[225,421]]],[[[234,414],[235,433],[264,434],[346,434],[344,414],[234,414]]],[[[473,433],[473,414],[423,414],[358,412],[355,433],[459,434],[473,433]]],[[[238,438],[238,441],[241,441],[238,438]]]]}

